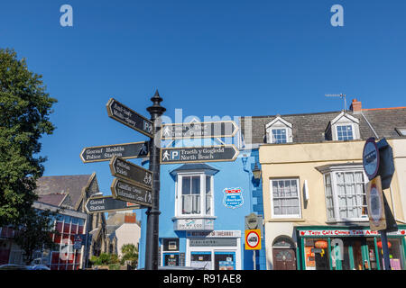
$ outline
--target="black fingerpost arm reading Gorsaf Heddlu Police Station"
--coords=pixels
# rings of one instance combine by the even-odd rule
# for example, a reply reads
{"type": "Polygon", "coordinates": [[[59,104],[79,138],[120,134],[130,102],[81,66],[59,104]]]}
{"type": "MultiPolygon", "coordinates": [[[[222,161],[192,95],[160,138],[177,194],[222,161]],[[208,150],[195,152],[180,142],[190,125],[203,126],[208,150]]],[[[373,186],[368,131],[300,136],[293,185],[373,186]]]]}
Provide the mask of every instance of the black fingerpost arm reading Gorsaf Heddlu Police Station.
{"type": "Polygon", "coordinates": [[[83,163],[110,161],[112,157],[139,158],[148,156],[148,142],[134,142],[83,148],[80,158],[83,163]]]}

